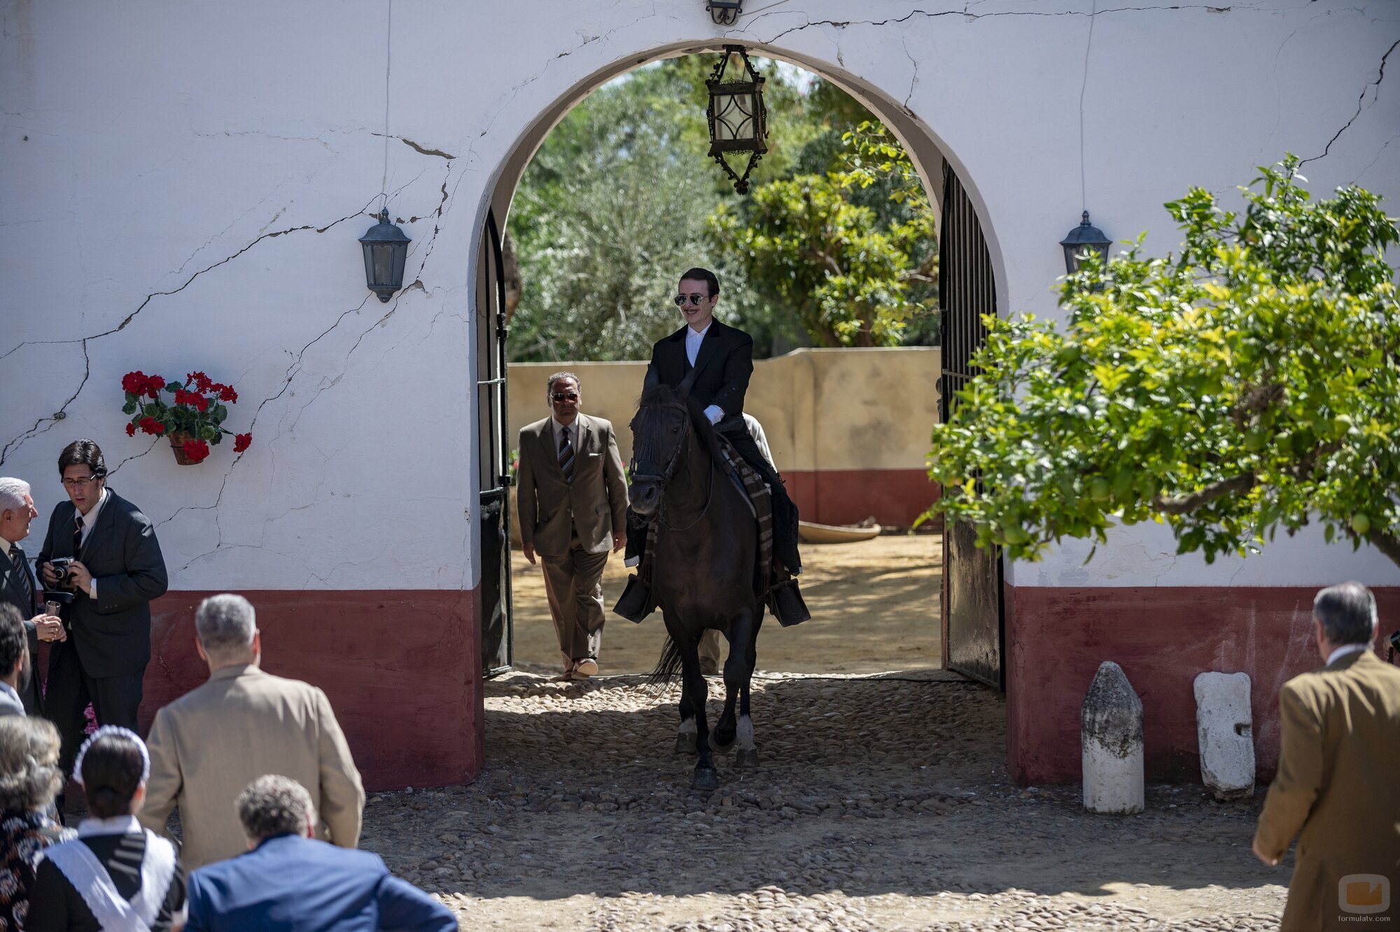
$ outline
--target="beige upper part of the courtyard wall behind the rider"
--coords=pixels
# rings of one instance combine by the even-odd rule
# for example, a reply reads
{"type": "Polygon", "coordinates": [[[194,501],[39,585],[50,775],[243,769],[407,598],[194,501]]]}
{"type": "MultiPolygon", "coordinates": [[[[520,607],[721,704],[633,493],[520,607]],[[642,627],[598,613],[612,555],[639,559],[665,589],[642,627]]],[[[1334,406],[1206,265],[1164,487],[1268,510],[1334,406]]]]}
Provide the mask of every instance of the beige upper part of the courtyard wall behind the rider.
{"type": "MultiPolygon", "coordinates": [[[[511,364],[511,445],[521,427],[549,417],[545,379],[559,369],[578,375],[584,413],[613,423],[627,460],[645,362],[511,364]]],[[[755,362],[743,407],[781,472],[924,469],[938,369],[938,347],[795,350],[755,362]]]]}

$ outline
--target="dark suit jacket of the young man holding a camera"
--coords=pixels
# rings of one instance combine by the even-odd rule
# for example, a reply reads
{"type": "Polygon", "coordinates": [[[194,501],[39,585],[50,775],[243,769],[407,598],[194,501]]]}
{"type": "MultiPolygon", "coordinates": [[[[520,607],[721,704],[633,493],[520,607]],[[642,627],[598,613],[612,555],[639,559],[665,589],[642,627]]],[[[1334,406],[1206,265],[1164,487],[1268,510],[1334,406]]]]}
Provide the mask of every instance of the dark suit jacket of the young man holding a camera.
{"type": "Polygon", "coordinates": [[[53,508],[38,558],[42,565],[53,557],[78,556],[97,579],[95,602],[80,592],[63,609],[69,641],[88,676],[140,673],[151,659],[151,599],[165,595],[167,586],[155,529],[136,505],[112,493],[83,553],[74,554],[76,511],[71,501],[53,508]]]}

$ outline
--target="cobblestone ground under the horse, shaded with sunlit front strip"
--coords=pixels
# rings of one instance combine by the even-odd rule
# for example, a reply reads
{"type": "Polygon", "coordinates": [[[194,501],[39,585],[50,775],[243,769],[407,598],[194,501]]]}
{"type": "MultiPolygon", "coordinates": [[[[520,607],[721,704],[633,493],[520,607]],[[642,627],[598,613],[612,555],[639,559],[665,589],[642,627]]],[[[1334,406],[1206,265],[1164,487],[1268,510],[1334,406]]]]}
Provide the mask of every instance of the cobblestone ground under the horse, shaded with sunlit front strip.
{"type": "Polygon", "coordinates": [[[491,682],[482,777],[374,793],[361,844],[465,929],[1278,925],[1292,865],[1250,855],[1259,799],[1149,786],[1141,816],[1085,814],[1009,779],[1001,696],[952,675],[756,682],[760,770],[720,756],[708,795],[672,753],[678,698],[491,682]]]}

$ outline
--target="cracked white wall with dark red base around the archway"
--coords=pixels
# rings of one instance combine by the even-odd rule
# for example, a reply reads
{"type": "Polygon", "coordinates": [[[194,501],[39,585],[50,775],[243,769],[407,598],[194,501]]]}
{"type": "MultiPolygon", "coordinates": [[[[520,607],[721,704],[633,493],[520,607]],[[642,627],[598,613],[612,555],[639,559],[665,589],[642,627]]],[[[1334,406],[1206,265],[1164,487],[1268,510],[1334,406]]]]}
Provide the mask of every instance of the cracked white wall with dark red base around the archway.
{"type": "MultiPolygon", "coordinates": [[[[1085,207],[1161,253],[1176,243],[1163,202],[1228,192],[1284,151],[1315,190],[1400,195],[1400,95],[1382,67],[1400,36],[1340,3],[743,6],[732,27],[704,0],[7,8],[0,473],[34,481],[48,512],[57,449],[94,437],[157,522],[172,591],[154,606],[147,721],[202,680],[199,598],[237,589],[267,668],[329,693],[370,785],[479,771],[496,533],[480,493],[501,449],[479,434],[497,375],[487,218],[504,223],[570,106],[648,60],[742,43],[890,126],[944,213],[948,367],[976,343],[959,315],[1058,315],[1058,241],[1085,207]],[[381,190],[413,238],[385,305],[354,242],[381,190]],[[253,445],[188,467],[127,438],[113,386],[137,368],[234,382],[230,424],[253,445]]],[[[696,168],[711,168],[701,153],[696,168]]],[[[1078,544],[1005,567],[965,560],[956,536],[951,550],[946,602],[956,619],[967,595],[981,631],[955,628],[970,656],[951,661],[988,679],[1004,666],[1008,756],[1036,781],[1077,777],[1078,705],[1103,659],[1144,694],[1149,777],[1193,775],[1205,669],[1252,675],[1267,770],[1277,684],[1312,663],[1312,589],[1359,578],[1382,586],[1383,614],[1400,607],[1382,557],[1320,535],[1212,567],[1155,526],[1088,564],[1078,544]]]]}

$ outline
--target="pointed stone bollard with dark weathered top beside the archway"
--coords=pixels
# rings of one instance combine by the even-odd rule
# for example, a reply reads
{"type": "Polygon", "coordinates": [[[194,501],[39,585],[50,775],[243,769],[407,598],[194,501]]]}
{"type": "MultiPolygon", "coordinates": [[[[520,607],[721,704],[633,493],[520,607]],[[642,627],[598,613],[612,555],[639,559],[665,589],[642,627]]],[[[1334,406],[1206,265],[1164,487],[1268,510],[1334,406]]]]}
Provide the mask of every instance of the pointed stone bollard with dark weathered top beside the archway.
{"type": "Polygon", "coordinates": [[[1099,665],[1079,708],[1084,807],[1127,816],[1142,812],[1142,700],[1123,668],[1099,665]]]}

